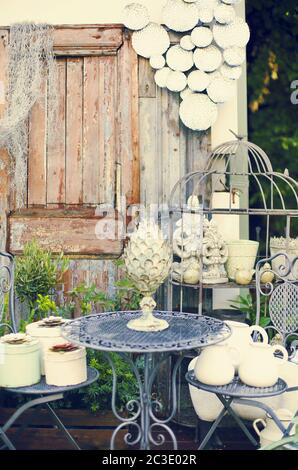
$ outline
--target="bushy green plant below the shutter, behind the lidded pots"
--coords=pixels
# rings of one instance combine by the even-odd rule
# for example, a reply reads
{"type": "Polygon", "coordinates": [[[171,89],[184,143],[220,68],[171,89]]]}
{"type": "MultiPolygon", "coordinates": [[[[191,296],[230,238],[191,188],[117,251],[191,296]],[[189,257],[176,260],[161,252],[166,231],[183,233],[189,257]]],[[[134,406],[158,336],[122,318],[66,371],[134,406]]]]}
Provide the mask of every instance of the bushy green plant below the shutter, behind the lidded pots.
{"type": "Polygon", "coordinates": [[[28,242],[23,256],[17,258],[15,289],[21,302],[35,308],[38,294],[46,296],[61,281],[69,266],[63,253],[53,258],[50,251],[41,248],[36,241],[28,242]]]}

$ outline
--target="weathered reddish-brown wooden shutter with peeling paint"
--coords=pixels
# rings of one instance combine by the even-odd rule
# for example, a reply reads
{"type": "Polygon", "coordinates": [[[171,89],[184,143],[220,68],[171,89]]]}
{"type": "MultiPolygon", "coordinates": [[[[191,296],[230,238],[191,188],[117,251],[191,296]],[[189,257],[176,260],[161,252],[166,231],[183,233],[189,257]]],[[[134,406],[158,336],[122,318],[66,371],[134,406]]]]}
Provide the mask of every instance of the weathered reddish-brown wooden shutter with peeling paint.
{"type": "Polygon", "coordinates": [[[121,194],[126,206],[139,201],[137,56],[121,26],[63,26],[54,34],[56,134],[50,143],[45,83],[28,123],[26,208],[14,210],[10,195],[8,249],[21,253],[36,238],[53,252],[119,255],[121,240],[95,235],[99,219],[118,215],[95,208],[119,206],[121,194]]]}

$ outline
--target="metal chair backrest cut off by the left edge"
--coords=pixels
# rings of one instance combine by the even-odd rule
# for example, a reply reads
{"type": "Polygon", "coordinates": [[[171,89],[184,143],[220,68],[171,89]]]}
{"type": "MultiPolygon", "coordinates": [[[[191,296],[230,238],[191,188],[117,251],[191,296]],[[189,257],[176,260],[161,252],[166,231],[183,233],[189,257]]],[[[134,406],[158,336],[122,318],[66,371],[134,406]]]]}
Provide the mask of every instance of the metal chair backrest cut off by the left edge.
{"type": "Polygon", "coordinates": [[[14,310],[14,257],[0,251],[0,326],[6,326],[14,333],[17,325],[14,310]],[[8,295],[8,312],[11,325],[4,318],[5,297],[8,295]]]}

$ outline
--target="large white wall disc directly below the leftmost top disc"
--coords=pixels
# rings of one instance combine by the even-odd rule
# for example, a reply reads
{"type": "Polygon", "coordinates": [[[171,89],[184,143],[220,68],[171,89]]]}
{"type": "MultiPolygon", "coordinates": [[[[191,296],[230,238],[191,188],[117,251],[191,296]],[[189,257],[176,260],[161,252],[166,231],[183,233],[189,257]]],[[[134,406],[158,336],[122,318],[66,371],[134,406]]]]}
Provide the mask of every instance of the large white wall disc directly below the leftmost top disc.
{"type": "Polygon", "coordinates": [[[153,55],[164,54],[170,46],[168,32],[157,23],[149,23],[141,31],[132,35],[132,47],[142,57],[149,59],[153,55]]]}

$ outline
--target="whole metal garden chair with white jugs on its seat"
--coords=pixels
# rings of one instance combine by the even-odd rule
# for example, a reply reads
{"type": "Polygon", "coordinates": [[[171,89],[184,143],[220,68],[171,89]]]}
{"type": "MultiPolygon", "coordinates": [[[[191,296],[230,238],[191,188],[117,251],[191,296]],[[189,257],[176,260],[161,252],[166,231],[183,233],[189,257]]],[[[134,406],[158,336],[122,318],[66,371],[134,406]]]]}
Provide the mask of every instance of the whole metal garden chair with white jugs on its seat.
{"type": "MultiPolygon", "coordinates": [[[[266,329],[274,331],[275,335],[278,335],[278,341],[286,346],[291,352],[291,359],[291,357],[294,357],[296,354],[296,347],[298,345],[298,257],[291,260],[288,255],[282,254],[259,261],[256,269],[256,293],[256,323],[259,323],[260,321],[262,296],[266,296],[269,299],[268,313],[271,319],[271,325],[266,329]],[[274,269],[271,267],[267,268],[266,263],[269,263],[270,266],[271,263],[273,263],[274,269]],[[264,272],[272,272],[275,276],[275,282],[262,284],[261,278],[264,272]]],[[[240,429],[242,429],[254,446],[258,445],[258,442],[251,434],[243,420],[232,409],[232,404],[252,406],[266,411],[266,413],[275,421],[283,436],[287,437],[290,435],[294,424],[291,423],[289,426],[285,427],[277,417],[275,411],[258,400],[260,398],[281,395],[282,393],[297,392],[298,386],[289,388],[286,382],[280,378],[273,387],[249,387],[243,384],[237,376],[228,385],[220,387],[209,386],[199,382],[196,379],[193,370],[190,370],[186,374],[186,380],[194,387],[216,394],[217,398],[223,405],[221,413],[201,442],[199,450],[202,450],[207,446],[226,414],[229,414],[235,420],[236,424],[240,429]]],[[[298,403],[295,416],[298,416],[298,403]]]]}

